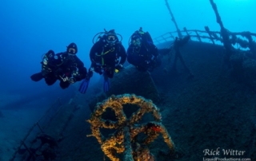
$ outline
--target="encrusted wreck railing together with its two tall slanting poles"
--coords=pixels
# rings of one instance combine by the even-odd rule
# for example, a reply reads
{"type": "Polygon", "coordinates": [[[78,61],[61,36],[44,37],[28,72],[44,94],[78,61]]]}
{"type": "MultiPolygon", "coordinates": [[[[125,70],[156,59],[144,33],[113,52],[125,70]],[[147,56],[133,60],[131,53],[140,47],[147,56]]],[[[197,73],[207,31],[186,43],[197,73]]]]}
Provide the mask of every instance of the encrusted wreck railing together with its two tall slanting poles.
{"type": "Polygon", "coordinates": [[[214,3],[214,0],[210,0],[210,4],[216,15],[216,21],[221,28],[220,31],[210,31],[209,26],[205,26],[205,31],[198,29],[186,29],[186,27],[184,27],[183,30],[178,29],[174,14],[171,12],[168,1],[166,0],[166,6],[170,11],[172,21],[174,22],[177,31],[165,33],[159,37],[154,38],[154,41],[160,45],[160,48],[164,48],[168,46],[162,46],[161,44],[168,41],[170,45],[170,42],[174,41],[175,39],[174,34],[178,34],[179,38],[190,35],[190,37],[195,37],[198,41],[202,41],[202,39],[210,39],[213,44],[215,44],[216,41],[221,41],[224,48],[226,49],[224,61],[230,61],[230,56],[234,54],[233,46],[235,45],[238,45],[239,48],[241,47],[242,49],[250,49],[250,53],[252,53],[254,55],[254,59],[256,59],[256,42],[253,39],[253,37],[256,37],[256,33],[250,33],[250,31],[230,32],[229,29],[225,28],[222,22],[222,18],[218,13],[217,5],[216,3],[214,3]],[[206,36],[206,34],[208,34],[208,36],[206,36]],[[241,37],[245,37],[246,40],[243,40],[241,37]]]}

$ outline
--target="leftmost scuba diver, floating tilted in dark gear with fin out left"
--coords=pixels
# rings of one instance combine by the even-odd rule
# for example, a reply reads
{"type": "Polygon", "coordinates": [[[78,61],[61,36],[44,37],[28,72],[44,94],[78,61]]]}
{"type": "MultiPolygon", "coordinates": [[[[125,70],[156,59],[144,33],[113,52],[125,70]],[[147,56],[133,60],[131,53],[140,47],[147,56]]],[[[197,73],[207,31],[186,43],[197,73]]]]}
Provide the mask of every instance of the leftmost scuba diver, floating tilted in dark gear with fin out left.
{"type": "Polygon", "coordinates": [[[78,47],[74,43],[67,46],[66,52],[55,54],[53,50],[49,50],[42,58],[42,71],[33,74],[30,77],[31,80],[40,81],[44,78],[48,85],[59,80],[60,87],[63,89],[77,81],[82,81],[87,71],[76,53],[78,53],[78,47]]]}

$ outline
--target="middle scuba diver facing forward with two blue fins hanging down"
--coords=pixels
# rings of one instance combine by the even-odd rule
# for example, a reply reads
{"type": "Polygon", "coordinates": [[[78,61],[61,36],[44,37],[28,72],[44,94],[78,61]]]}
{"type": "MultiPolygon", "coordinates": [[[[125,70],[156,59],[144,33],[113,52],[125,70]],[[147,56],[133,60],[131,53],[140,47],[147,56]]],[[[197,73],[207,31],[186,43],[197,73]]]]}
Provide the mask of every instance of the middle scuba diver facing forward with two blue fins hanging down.
{"type": "Polygon", "coordinates": [[[122,45],[122,36],[115,33],[114,29],[110,31],[97,33],[93,38],[94,45],[90,49],[90,69],[86,79],[82,81],[79,91],[85,93],[90,83],[93,73],[103,74],[104,83],[103,90],[107,92],[110,89],[109,78],[114,77],[114,73],[118,73],[122,69],[122,65],[126,61],[126,49],[122,45]],[[97,41],[94,38],[98,36],[97,41]],[[121,37],[121,40],[118,39],[121,37]]]}

